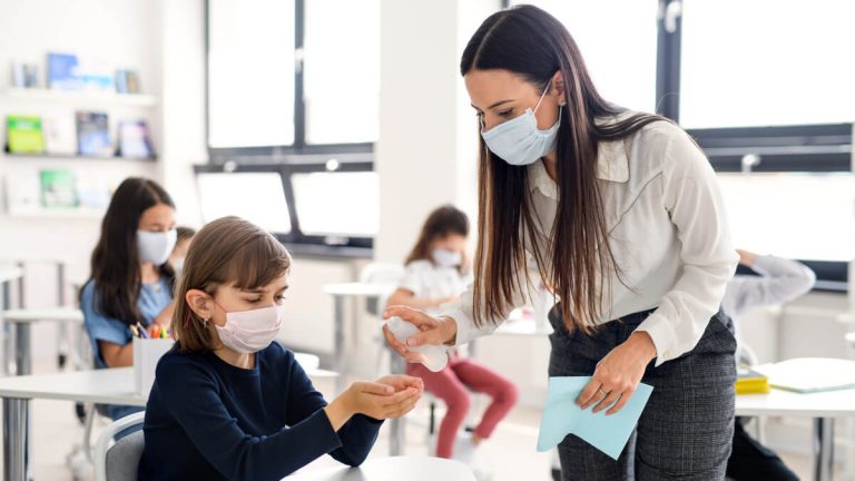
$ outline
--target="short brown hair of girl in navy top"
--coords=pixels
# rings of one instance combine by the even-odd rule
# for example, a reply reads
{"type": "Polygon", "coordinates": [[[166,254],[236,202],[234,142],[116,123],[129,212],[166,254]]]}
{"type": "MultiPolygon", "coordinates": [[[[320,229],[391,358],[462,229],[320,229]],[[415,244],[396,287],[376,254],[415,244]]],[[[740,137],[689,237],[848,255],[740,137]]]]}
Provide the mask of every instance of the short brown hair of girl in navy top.
{"type": "Polygon", "coordinates": [[[239,217],[223,217],[207,224],[193,237],[175,293],[173,335],[181,352],[220,347],[213,323],[205,322],[187,305],[187,291],[214,296],[217,287],[264,287],[291,269],[287,249],[261,227],[239,217]]]}

